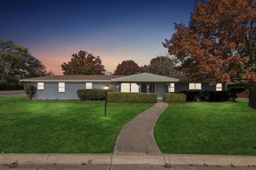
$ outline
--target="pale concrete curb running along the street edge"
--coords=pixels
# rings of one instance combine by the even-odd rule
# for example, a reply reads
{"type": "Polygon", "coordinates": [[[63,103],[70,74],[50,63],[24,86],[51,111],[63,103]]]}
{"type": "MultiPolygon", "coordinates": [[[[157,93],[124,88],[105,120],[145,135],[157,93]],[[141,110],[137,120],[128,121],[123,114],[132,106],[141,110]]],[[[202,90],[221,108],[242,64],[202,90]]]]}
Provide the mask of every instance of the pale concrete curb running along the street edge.
{"type": "Polygon", "coordinates": [[[0,164],[81,165],[92,159],[97,165],[256,165],[256,156],[183,155],[183,154],[0,154],[0,164]]]}

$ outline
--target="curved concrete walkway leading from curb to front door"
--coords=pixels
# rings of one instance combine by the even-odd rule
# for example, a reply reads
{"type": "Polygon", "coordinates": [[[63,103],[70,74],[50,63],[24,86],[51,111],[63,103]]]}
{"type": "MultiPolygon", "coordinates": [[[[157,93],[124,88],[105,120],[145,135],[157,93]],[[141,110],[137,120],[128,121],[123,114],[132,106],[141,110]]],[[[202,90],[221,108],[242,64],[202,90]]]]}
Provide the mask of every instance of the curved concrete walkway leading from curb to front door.
{"type": "Polygon", "coordinates": [[[154,126],[167,107],[167,103],[158,102],[127,123],[118,134],[114,153],[161,154],[154,138],[154,126]]]}

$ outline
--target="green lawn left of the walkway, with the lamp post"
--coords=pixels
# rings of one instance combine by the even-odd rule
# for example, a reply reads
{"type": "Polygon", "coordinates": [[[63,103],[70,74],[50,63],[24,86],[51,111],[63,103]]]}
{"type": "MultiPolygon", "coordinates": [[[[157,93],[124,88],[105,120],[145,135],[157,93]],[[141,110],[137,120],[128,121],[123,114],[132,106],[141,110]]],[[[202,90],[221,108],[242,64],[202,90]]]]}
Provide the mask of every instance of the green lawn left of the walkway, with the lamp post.
{"type": "Polygon", "coordinates": [[[113,152],[123,125],[153,104],[0,97],[1,152],[113,152]]]}

